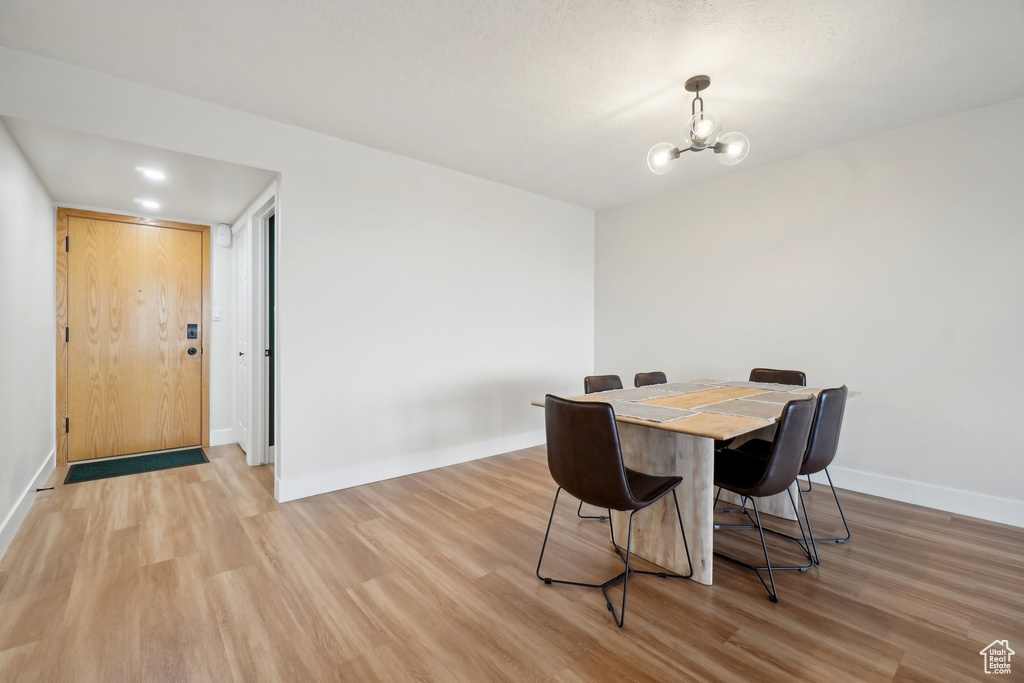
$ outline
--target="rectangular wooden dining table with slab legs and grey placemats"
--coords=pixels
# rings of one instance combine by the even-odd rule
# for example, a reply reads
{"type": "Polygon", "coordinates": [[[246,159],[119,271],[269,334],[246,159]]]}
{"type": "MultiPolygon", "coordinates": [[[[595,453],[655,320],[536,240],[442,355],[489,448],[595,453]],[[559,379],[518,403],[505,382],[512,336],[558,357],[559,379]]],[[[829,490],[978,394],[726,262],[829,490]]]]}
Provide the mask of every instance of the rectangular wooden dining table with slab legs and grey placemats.
{"type": "MultiPolygon", "coordinates": [[[[693,581],[712,584],[715,533],[716,441],[738,445],[751,438],[771,439],[790,400],[816,396],[821,389],[760,382],[697,379],[647,387],[571,396],[572,400],[607,401],[615,412],[626,467],[664,476],[680,476],[679,510],[686,529],[683,545],[672,498],[663,498],[633,522],[633,554],[693,581]],[[670,410],[664,410],[670,409],[670,410]],[[671,507],[670,507],[671,506],[671,507]]],[[[544,405],[543,400],[534,401],[544,405]]],[[[723,457],[728,457],[723,456],[723,457]]],[[[762,515],[797,519],[791,490],[758,499],[762,515]]],[[[721,492],[719,502],[742,505],[721,492]]],[[[614,543],[626,547],[629,512],[611,511],[614,543]]]]}

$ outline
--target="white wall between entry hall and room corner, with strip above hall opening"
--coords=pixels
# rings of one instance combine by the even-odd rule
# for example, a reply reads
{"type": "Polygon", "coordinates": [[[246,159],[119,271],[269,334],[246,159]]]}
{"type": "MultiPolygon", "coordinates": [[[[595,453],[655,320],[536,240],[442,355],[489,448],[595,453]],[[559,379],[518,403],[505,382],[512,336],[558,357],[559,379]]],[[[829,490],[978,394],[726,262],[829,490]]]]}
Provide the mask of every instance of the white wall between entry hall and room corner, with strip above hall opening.
{"type": "Polygon", "coordinates": [[[529,400],[591,371],[590,210],[6,48],[0,83],[0,114],[282,173],[283,500],[540,443],[529,400]]]}

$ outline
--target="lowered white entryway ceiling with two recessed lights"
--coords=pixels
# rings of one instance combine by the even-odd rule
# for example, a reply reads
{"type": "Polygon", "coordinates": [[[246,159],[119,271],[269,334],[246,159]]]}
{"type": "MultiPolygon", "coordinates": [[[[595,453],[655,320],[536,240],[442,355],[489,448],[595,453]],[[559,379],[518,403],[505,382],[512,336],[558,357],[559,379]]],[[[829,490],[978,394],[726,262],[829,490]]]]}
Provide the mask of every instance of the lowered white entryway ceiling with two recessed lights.
{"type": "Polygon", "coordinates": [[[278,175],[31,121],[0,120],[58,204],[231,223],[278,175]],[[151,180],[136,167],[167,177],[151,180]],[[160,208],[146,209],[136,199],[155,200],[160,208]]]}

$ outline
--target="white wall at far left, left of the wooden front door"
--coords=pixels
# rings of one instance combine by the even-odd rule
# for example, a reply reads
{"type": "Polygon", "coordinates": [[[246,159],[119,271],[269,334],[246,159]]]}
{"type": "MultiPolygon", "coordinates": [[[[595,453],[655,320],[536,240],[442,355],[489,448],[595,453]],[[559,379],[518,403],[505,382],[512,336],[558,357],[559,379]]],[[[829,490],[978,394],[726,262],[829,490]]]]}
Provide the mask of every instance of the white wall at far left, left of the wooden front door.
{"type": "Polygon", "coordinates": [[[0,123],[0,557],[55,460],[53,208],[0,123]]]}

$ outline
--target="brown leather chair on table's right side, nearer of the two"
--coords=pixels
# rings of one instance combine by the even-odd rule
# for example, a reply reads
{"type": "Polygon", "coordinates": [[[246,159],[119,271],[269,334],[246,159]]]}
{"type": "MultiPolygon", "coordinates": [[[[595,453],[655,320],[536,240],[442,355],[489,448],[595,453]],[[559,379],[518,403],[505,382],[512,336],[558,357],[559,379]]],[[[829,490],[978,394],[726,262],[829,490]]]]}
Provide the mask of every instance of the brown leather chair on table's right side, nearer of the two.
{"type": "Polygon", "coordinates": [[[804,532],[804,524],[800,521],[797,501],[790,492],[790,486],[797,480],[797,475],[804,464],[804,454],[807,452],[807,440],[814,419],[814,397],[808,396],[802,400],[790,401],[782,409],[782,415],[775,429],[775,440],[771,442],[767,456],[763,443],[748,441],[735,449],[724,449],[715,454],[715,485],[731,490],[751,501],[754,507],[754,517],[744,506],[742,511],[751,524],[715,524],[716,529],[724,528],[757,528],[761,535],[761,548],[765,554],[765,566],[755,566],[728,555],[716,552],[715,555],[753,569],[768,591],[768,598],[778,602],[778,591],[775,589],[775,569],[801,569],[806,571],[814,565],[810,543],[804,532]],[[748,445],[753,443],[753,445],[748,445]],[[801,549],[807,554],[807,565],[773,567],[768,555],[768,545],[765,543],[765,528],[761,524],[761,514],[758,512],[758,498],[775,496],[787,492],[793,511],[797,513],[797,523],[800,525],[804,544],[801,549]],[[767,570],[771,588],[765,583],[761,572],[767,570]]]}

